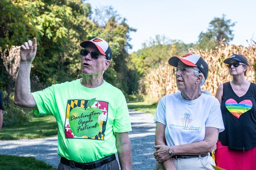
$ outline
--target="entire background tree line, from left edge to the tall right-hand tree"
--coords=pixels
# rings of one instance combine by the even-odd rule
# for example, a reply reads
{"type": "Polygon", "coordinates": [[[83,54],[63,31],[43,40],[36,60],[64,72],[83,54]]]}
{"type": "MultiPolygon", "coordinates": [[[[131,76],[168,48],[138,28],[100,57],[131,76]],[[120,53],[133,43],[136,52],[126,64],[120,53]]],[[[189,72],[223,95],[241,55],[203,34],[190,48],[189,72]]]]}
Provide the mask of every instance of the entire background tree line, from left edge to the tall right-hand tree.
{"type": "Polygon", "coordinates": [[[166,62],[171,55],[181,56],[188,48],[215,48],[218,42],[228,43],[234,37],[231,28],[235,23],[223,15],[209,23],[208,30],[200,33],[196,43],[185,44],[156,35],[143,43],[140,50],[128,54],[128,49],[132,48],[130,33],[136,29],[112,6],[93,10],[82,0],[2,0],[0,8],[0,89],[4,91],[5,101],[12,99],[15,85],[15,75],[10,70],[17,71],[18,66],[8,71],[7,68],[14,66],[14,59],[7,68],[4,61],[12,46],[19,46],[33,37],[37,38],[38,48],[31,69],[32,92],[81,77],[79,43],[101,37],[110,44],[113,53],[111,66],[103,77],[126,96],[143,92],[140,81],[145,73],[166,62]]]}

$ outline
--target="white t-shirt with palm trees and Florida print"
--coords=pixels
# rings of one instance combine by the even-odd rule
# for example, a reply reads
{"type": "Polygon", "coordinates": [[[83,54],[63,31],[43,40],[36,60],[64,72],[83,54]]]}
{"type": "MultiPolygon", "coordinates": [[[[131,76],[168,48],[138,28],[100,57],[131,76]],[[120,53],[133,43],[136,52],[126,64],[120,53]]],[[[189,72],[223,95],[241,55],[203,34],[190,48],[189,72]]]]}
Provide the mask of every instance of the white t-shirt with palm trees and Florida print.
{"type": "Polygon", "coordinates": [[[204,140],[205,127],[224,130],[220,103],[202,93],[195,100],[185,100],[181,92],[164,96],[158,103],[154,121],[163,123],[168,146],[204,140]]]}

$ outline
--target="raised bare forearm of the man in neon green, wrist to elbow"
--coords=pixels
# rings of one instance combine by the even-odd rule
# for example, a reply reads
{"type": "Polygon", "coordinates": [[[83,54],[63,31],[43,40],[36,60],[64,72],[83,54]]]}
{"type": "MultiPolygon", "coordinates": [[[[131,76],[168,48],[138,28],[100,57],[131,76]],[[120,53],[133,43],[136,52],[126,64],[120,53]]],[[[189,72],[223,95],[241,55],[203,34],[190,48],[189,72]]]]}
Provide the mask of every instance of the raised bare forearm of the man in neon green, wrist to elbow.
{"type": "MultiPolygon", "coordinates": [[[[20,68],[15,84],[14,103],[26,107],[30,103],[30,62],[20,62],[20,68]]],[[[34,103],[36,105],[36,103],[34,103]]]]}

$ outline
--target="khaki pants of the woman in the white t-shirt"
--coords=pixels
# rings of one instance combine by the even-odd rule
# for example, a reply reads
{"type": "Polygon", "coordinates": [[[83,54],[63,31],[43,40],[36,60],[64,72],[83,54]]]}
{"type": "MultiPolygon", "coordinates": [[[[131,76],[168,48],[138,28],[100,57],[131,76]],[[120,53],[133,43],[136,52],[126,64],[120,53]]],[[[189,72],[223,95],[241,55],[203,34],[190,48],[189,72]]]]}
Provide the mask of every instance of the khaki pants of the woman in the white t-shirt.
{"type": "MultiPolygon", "coordinates": [[[[172,158],[172,161],[176,167],[177,170],[201,170],[201,169],[208,169],[208,170],[214,170],[213,166],[215,165],[214,160],[211,156],[205,156],[197,158],[186,158],[186,159],[174,159],[172,158]]],[[[156,162],[155,164],[155,170],[165,170],[164,166],[162,164],[159,164],[156,162]]]]}

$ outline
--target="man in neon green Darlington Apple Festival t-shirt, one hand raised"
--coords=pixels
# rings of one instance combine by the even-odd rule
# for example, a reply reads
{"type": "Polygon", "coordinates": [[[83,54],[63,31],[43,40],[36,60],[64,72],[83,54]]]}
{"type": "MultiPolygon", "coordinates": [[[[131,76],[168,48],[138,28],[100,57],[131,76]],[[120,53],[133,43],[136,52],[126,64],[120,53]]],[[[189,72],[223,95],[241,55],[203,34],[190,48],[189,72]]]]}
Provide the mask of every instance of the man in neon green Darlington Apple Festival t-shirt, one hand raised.
{"type": "Polygon", "coordinates": [[[40,115],[53,115],[58,125],[58,169],[132,169],[128,131],[131,123],[123,93],[103,79],[112,51],[101,38],[80,43],[83,78],[30,92],[30,68],[36,38],[20,47],[14,103],[40,115]]]}

